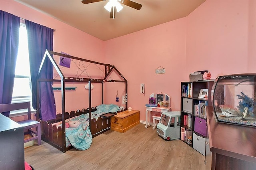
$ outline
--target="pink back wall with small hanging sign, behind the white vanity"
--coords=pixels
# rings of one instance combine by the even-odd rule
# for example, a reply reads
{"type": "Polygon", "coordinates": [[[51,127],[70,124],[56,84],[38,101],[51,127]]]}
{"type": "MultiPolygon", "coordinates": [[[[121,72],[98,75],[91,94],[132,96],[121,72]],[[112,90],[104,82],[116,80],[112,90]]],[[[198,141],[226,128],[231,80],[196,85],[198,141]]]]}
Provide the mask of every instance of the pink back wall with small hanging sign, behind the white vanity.
{"type": "Polygon", "coordinates": [[[108,40],[104,45],[109,62],[128,80],[128,107],[140,111],[140,120],[145,121],[145,104],[152,93],[167,93],[172,110],[180,110],[180,81],[186,77],[186,18],[108,40]],[[158,67],[166,73],[156,75],[158,67]],[[140,93],[140,83],[145,83],[145,94],[140,93]]]}

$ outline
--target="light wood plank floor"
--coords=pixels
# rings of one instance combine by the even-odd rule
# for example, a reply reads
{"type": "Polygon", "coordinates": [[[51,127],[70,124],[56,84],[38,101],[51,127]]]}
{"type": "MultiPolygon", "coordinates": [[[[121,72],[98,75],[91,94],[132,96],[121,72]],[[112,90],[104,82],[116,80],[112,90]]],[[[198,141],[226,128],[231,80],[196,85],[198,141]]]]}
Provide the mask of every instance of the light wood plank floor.
{"type": "Polygon", "coordinates": [[[87,150],[63,153],[42,141],[25,149],[25,161],[35,170],[205,170],[202,154],[181,140],[165,141],[144,124],[125,133],[108,130],[87,150]]]}

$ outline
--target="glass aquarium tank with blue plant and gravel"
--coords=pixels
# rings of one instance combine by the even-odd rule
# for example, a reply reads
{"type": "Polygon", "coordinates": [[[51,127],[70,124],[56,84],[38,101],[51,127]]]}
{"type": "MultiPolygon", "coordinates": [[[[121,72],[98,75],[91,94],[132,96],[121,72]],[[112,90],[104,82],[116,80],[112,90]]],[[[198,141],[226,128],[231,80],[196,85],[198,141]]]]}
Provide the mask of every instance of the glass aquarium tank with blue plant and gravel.
{"type": "Polygon", "coordinates": [[[212,86],[217,122],[256,127],[256,73],[223,75],[212,86]]]}

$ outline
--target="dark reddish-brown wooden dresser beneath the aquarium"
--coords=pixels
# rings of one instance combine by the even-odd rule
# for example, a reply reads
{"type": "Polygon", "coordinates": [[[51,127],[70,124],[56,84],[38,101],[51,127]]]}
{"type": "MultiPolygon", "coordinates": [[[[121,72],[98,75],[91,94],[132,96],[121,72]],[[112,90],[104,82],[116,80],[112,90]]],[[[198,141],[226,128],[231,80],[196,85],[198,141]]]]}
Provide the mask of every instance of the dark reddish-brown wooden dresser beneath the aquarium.
{"type": "Polygon", "coordinates": [[[256,170],[256,127],[217,123],[207,108],[206,170],[256,170]]]}

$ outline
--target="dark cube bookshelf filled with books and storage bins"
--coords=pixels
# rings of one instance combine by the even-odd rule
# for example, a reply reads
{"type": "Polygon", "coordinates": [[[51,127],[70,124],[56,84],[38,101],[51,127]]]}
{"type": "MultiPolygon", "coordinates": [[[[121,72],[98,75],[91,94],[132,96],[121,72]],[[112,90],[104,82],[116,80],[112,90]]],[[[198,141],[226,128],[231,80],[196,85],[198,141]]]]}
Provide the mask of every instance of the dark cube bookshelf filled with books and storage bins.
{"type": "Polygon", "coordinates": [[[181,82],[181,140],[203,155],[208,152],[205,145],[205,106],[212,106],[211,91],[213,83],[214,80],[181,82]],[[208,91],[205,89],[208,89],[208,91]],[[207,92],[207,95],[202,95],[206,93],[205,91],[207,92]]]}

